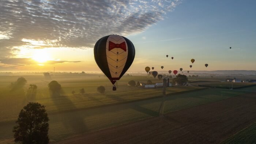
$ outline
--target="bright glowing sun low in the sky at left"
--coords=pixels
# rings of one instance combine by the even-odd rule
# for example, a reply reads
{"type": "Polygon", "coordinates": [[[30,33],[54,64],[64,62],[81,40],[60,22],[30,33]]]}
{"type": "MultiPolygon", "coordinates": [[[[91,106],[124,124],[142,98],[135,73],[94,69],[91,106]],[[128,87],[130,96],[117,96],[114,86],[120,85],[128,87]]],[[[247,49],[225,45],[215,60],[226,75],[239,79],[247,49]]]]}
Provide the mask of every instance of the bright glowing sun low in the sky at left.
{"type": "Polygon", "coordinates": [[[44,63],[50,60],[50,53],[45,49],[37,49],[33,53],[32,59],[39,63],[44,63]]]}

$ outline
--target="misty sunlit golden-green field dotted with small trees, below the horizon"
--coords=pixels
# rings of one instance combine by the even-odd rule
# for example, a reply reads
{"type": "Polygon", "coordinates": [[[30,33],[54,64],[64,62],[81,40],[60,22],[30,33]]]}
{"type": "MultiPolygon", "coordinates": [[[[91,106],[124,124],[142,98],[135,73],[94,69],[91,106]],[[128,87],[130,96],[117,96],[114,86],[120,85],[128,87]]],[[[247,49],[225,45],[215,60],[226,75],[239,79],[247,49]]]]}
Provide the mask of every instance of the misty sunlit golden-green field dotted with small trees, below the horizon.
{"type": "MultiPolygon", "coordinates": [[[[129,87],[127,83],[129,80],[136,80],[146,82],[151,79],[154,83],[161,82],[160,80],[147,77],[124,77],[117,86],[117,91],[112,91],[112,84],[106,77],[99,77],[99,75],[88,76],[56,76],[62,87],[61,96],[51,96],[49,93],[48,82],[42,76],[24,76],[27,80],[27,85],[23,91],[10,91],[8,86],[11,82],[15,82],[18,76],[1,77],[0,87],[0,122],[13,121],[18,117],[19,111],[28,102],[38,102],[46,106],[48,114],[59,113],[64,111],[74,111],[81,109],[88,109],[92,107],[99,107],[105,105],[113,105],[117,103],[138,101],[142,99],[161,97],[162,88],[144,89],[138,87],[129,87]],[[37,80],[35,80],[37,79],[37,80]],[[26,96],[26,91],[29,84],[36,84],[38,86],[37,95],[35,98],[26,96]],[[105,86],[105,94],[99,94],[96,89],[100,85],[105,86]],[[84,88],[85,94],[79,94],[79,89],[84,88]],[[71,94],[74,90],[77,94],[71,94]]],[[[197,90],[200,87],[170,87],[167,88],[166,94],[175,94],[177,92],[197,90]]]]}

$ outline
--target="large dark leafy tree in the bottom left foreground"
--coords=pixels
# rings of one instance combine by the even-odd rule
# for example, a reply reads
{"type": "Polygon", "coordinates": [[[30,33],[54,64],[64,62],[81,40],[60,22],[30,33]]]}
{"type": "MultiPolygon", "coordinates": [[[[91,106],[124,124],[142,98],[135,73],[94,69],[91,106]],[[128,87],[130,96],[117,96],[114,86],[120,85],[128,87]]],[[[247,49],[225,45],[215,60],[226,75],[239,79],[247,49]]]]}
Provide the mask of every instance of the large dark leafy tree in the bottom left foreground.
{"type": "Polygon", "coordinates": [[[49,118],[45,106],[30,102],[19,113],[14,138],[16,143],[48,144],[49,118]]]}

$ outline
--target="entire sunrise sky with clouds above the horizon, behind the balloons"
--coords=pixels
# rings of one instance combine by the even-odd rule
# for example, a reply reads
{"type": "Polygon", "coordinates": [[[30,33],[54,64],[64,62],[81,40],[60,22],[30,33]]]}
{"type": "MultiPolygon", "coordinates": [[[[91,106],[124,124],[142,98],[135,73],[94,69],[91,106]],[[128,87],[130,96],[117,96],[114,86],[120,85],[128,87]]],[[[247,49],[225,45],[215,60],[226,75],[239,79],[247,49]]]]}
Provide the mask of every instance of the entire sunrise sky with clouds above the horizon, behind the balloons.
{"type": "Polygon", "coordinates": [[[100,71],[94,44],[110,34],[135,46],[128,72],[147,66],[256,70],[255,5],[255,0],[1,0],[0,71],[100,71]]]}

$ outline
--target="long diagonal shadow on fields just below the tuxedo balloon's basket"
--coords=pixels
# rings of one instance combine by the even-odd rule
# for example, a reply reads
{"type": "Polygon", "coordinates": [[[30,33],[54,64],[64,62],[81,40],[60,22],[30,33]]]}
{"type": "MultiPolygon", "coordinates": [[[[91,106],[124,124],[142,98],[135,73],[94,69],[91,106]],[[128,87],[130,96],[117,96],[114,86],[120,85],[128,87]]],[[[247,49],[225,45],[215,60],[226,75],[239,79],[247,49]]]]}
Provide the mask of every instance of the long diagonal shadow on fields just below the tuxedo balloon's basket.
{"type": "MultiPolygon", "coordinates": [[[[114,100],[116,100],[117,102],[124,102],[124,101],[125,101],[125,100],[122,99],[120,96],[106,95],[106,97],[111,98],[111,99],[114,99],[114,100]]],[[[156,112],[156,111],[147,109],[147,108],[145,108],[145,107],[142,107],[142,106],[139,106],[139,105],[136,105],[136,104],[132,104],[130,108],[131,108],[131,109],[134,109],[134,110],[136,110],[136,111],[139,111],[139,112],[141,112],[141,113],[150,115],[150,116],[152,116],[152,117],[156,117],[156,116],[159,115],[159,113],[156,112]]]]}

